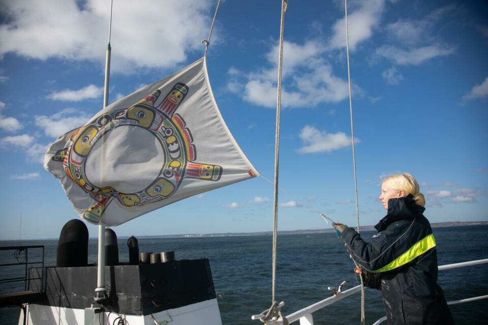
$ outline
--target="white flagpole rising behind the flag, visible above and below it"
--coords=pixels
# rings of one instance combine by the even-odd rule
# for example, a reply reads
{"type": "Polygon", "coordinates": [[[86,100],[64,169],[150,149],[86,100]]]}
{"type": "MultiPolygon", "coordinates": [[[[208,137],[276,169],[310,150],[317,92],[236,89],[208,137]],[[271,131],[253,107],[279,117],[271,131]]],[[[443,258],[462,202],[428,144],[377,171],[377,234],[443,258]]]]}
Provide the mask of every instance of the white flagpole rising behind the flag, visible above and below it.
{"type": "MultiPolygon", "coordinates": [[[[112,2],[113,5],[113,2],[112,2]]],[[[108,88],[110,82],[110,56],[112,48],[110,46],[110,36],[112,34],[112,5],[110,7],[110,29],[108,34],[107,53],[105,56],[105,85],[103,91],[103,108],[108,106],[108,88]]],[[[95,302],[101,303],[107,298],[105,288],[105,226],[98,225],[98,270],[97,288],[95,289],[95,302]]]]}

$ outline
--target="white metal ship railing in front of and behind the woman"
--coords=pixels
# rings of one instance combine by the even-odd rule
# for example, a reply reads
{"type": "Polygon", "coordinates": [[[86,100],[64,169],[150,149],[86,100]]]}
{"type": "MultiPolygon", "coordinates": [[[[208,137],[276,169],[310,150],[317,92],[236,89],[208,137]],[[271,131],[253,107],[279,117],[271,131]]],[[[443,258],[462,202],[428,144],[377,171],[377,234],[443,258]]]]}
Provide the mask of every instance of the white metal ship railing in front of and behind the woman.
{"type": "MultiPolygon", "coordinates": [[[[455,264],[448,264],[448,265],[442,265],[439,266],[439,271],[443,270],[449,270],[449,269],[455,269],[455,268],[462,268],[465,266],[473,266],[473,265],[479,265],[479,264],[485,264],[488,263],[488,258],[484,259],[478,259],[476,261],[470,261],[470,262],[463,262],[463,263],[455,263],[455,264]]],[[[285,316],[286,319],[288,320],[289,323],[292,323],[294,321],[299,320],[300,325],[314,325],[314,318],[312,314],[316,312],[317,310],[320,310],[330,304],[333,304],[334,302],[337,302],[341,299],[344,299],[346,297],[349,297],[358,291],[361,291],[361,285],[357,285],[351,289],[348,289],[346,291],[342,291],[342,285],[344,282],[339,286],[339,290],[335,292],[334,289],[334,295],[332,297],[329,297],[327,299],[324,299],[322,301],[319,301],[313,305],[310,305],[308,307],[305,307],[303,309],[300,309],[298,311],[295,311],[294,313],[289,314],[288,316],[285,316]]],[[[329,288],[330,289],[330,288],[329,288]]],[[[468,298],[468,299],[462,299],[462,300],[455,300],[455,301],[449,301],[447,302],[448,305],[454,305],[454,304],[462,304],[462,303],[467,303],[471,301],[476,301],[476,300],[481,300],[481,299],[488,299],[488,295],[485,296],[479,296],[479,297],[473,297],[473,298],[468,298]]],[[[282,305],[281,303],[280,305],[282,305]]],[[[254,315],[251,318],[252,319],[260,319],[264,317],[264,315],[254,315]]],[[[382,323],[383,321],[386,320],[386,317],[382,317],[378,319],[373,325],[377,325],[382,323]]],[[[271,319],[267,321],[268,325],[283,325],[283,320],[281,318],[278,319],[271,319]]]]}

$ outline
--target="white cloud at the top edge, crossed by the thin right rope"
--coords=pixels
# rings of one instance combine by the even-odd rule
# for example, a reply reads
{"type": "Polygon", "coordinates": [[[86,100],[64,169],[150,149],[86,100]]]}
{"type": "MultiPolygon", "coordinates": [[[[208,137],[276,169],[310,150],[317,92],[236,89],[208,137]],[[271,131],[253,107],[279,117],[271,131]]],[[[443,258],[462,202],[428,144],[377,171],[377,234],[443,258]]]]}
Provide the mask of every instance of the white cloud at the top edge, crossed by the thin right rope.
{"type": "MultiPolygon", "coordinates": [[[[373,35],[384,10],[384,0],[366,0],[359,2],[357,10],[348,12],[349,48],[353,51],[359,43],[373,35]]],[[[346,18],[337,20],[332,26],[333,35],[329,40],[331,48],[346,47],[346,18]]]]}

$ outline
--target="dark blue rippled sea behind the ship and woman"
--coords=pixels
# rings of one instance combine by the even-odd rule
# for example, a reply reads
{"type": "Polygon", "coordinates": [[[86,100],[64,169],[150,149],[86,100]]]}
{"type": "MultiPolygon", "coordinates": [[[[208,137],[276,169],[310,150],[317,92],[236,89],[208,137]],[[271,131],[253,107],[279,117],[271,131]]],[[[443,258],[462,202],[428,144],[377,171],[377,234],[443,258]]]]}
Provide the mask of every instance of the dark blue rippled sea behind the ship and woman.
{"type": "MultiPolygon", "coordinates": [[[[439,265],[488,258],[488,225],[434,228],[433,233],[439,265]]],[[[361,237],[368,241],[374,234],[364,231],[361,237]]],[[[175,259],[208,258],[222,323],[261,324],[259,320],[251,320],[251,315],[259,314],[271,305],[271,236],[139,238],[138,242],[141,252],[173,250],[175,259]]],[[[0,246],[18,244],[18,241],[0,241],[0,246]]],[[[44,245],[45,265],[55,265],[57,240],[22,241],[21,244],[44,245]]],[[[119,238],[118,247],[119,261],[128,262],[127,238],[119,238]]],[[[5,263],[12,258],[2,255],[0,261],[5,263]]],[[[31,258],[34,257],[29,254],[31,258]]],[[[88,263],[96,261],[97,240],[93,239],[89,241],[88,263]]],[[[1,279],[11,276],[5,269],[0,268],[1,279]]],[[[343,287],[346,290],[359,284],[353,269],[349,254],[335,233],[279,235],[276,300],[285,302],[282,309],[285,315],[291,314],[330,297],[332,291],[328,287],[338,288],[346,281],[343,287]]],[[[447,301],[488,295],[488,264],[439,271],[438,283],[447,301]]],[[[5,292],[5,286],[0,290],[5,292]]],[[[313,314],[314,324],[359,324],[360,301],[358,292],[325,307],[313,314]]],[[[488,324],[488,299],[449,308],[456,324],[488,324]]],[[[0,308],[0,323],[16,324],[19,313],[19,307],[0,308]]],[[[366,323],[372,324],[383,316],[381,291],[366,288],[366,323]]]]}

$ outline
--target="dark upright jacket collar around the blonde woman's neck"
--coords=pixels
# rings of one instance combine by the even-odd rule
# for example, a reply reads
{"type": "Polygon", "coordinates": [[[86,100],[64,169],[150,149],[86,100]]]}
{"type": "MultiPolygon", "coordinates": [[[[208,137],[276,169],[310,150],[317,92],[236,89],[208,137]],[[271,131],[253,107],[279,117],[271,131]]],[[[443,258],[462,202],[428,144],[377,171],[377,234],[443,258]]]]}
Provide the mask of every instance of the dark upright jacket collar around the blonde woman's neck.
{"type": "Polygon", "coordinates": [[[383,231],[390,223],[413,219],[416,215],[422,214],[423,211],[425,208],[415,204],[412,194],[408,194],[404,198],[389,199],[388,213],[375,225],[375,228],[378,232],[383,231]]]}

